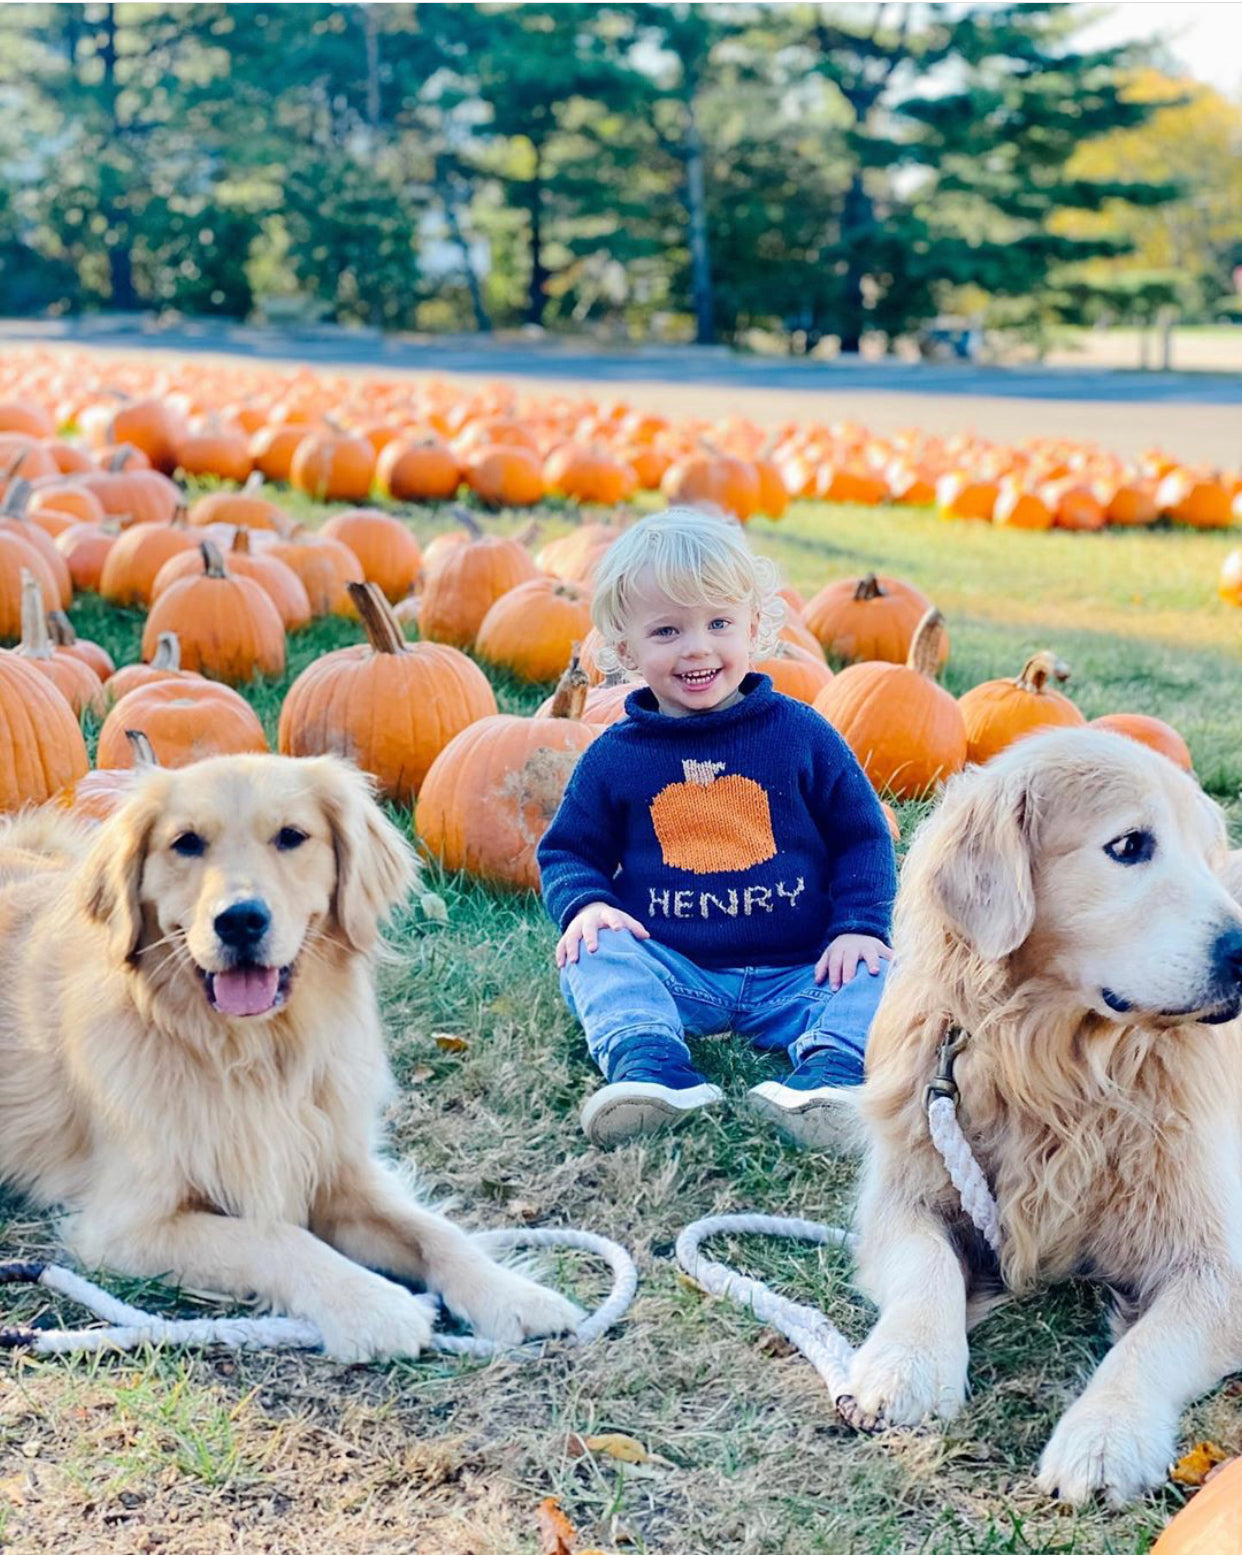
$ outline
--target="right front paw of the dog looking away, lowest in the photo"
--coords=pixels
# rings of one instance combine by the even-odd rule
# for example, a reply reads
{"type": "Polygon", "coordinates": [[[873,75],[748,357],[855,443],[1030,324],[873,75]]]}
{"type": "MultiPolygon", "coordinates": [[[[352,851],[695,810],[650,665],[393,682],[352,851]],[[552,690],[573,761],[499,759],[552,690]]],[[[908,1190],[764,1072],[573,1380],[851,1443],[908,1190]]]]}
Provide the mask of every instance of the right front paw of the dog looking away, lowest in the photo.
{"type": "Polygon", "coordinates": [[[1043,1449],[1038,1487],[1076,1507],[1094,1494],[1124,1507],[1164,1480],[1172,1455],[1172,1424],[1130,1400],[1083,1395],[1043,1449]]]}

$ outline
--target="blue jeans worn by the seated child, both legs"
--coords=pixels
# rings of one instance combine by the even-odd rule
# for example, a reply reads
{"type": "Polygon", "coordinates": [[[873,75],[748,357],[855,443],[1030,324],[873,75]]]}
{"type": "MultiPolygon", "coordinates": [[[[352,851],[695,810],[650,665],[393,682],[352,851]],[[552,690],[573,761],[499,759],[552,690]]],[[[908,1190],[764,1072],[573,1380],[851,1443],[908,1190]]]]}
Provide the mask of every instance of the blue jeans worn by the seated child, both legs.
{"type": "Polygon", "coordinates": [[[561,969],[561,992],[605,1078],[631,1037],[665,1036],[689,1062],[686,1036],[735,1031],[760,1053],[787,1053],[791,1064],[825,1050],[835,1059],[827,1082],[860,1085],[886,975],[886,961],[877,975],[860,961],[852,981],[833,992],[810,966],[704,970],[658,939],[602,928],[598,950],[580,945],[578,959],[561,969]]]}

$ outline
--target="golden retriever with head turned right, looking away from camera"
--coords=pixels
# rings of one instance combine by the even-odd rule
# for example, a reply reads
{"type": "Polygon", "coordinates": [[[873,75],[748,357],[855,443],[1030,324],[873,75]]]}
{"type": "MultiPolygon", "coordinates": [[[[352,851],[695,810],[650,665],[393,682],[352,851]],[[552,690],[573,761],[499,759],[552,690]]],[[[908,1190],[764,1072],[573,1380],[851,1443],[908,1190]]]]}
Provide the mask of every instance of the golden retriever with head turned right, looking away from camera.
{"type": "Polygon", "coordinates": [[[948,784],[905,865],[867,1051],[864,1417],[950,1418],[998,1288],[1090,1275],[1121,1337],[1038,1483],[1121,1504],[1164,1479],[1183,1407],[1242,1365],[1240,885],[1217,805],[1121,736],[1035,736],[948,784]],[[928,1137],[948,1022],[998,1269],[928,1137]]]}

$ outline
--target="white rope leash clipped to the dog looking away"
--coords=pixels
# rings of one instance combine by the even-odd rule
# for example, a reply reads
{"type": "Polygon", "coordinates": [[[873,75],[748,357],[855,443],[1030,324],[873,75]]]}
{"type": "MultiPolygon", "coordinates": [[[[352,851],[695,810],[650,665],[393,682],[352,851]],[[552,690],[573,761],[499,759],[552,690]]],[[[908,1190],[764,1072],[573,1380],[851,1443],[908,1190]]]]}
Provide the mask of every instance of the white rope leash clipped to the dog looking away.
{"type": "MultiPolygon", "coordinates": [[[[967,1137],[958,1123],[958,1104],[951,1096],[939,1095],[928,1104],[928,1129],[939,1151],[953,1186],[962,1199],[962,1208],[986,1238],[993,1253],[1000,1256],[1001,1227],[996,1200],[987,1186],[967,1137]]],[[[754,1316],[783,1334],[815,1367],[829,1389],[829,1396],[844,1420],[853,1426],[872,1427],[864,1421],[849,1393],[849,1373],[853,1347],[849,1339],[829,1322],[815,1306],[790,1302],[777,1295],[762,1280],[715,1263],[699,1252],[710,1236],[788,1236],[802,1242],[853,1249],[856,1236],[839,1225],[824,1225],[819,1221],[787,1219],[776,1214],[710,1214],[687,1225],[678,1236],[676,1260],[684,1272],[710,1295],[727,1295],[741,1306],[749,1306],[754,1316]]]]}

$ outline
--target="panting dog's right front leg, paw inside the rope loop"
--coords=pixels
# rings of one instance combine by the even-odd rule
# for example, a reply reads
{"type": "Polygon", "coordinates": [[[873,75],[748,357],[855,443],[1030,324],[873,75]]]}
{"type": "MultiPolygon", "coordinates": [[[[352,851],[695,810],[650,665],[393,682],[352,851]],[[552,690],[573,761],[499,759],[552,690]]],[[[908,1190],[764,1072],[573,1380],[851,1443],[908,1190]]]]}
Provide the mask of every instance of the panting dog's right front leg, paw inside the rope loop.
{"type": "Polygon", "coordinates": [[[494,1263],[460,1227],[415,1204],[378,1162],[339,1172],[316,1202],[311,1228],[347,1258],[434,1291],[501,1344],[570,1333],[581,1322],[572,1302],[494,1263]]]}

